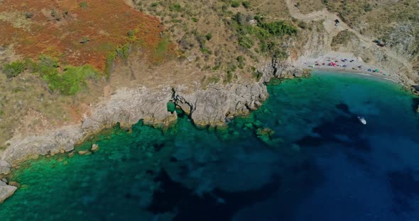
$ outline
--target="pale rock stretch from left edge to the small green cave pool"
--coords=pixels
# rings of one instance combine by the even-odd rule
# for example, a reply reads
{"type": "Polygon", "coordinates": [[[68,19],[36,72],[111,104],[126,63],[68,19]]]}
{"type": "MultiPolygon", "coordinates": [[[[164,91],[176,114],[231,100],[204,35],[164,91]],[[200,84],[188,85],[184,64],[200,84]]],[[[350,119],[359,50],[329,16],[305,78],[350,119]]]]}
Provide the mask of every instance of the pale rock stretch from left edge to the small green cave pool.
{"type": "Polygon", "coordinates": [[[15,136],[7,143],[9,147],[0,158],[0,174],[7,174],[11,164],[38,155],[70,152],[74,145],[103,128],[116,123],[131,126],[143,119],[144,123],[164,126],[177,120],[176,113],[167,110],[172,98],[170,87],[149,91],[147,89],[120,89],[109,101],[99,102],[94,112],[85,115],[81,125],[67,125],[58,130],[50,130],[40,135],[15,136]]]}

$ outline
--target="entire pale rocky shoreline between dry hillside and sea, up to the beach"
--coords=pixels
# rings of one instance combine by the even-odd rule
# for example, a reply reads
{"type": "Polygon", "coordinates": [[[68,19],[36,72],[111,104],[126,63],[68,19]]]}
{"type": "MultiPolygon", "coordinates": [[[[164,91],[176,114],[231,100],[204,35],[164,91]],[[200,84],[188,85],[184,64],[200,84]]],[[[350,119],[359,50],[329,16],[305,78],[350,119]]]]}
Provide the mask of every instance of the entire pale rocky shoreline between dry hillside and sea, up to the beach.
{"type": "MultiPolygon", "coordinates": [[[[7,142],[8,147],[0,158],[0,174],[9,174],[11,168],[39,155],[55,155],[71,152],[74,146],[90,135],[110,128],[116,123],[131,127],[139,120],[147,125],[165,127],[175,123],[176,112],[170,113],[168,102],[173,102],[190,116],[197,126],[224,126],[229,118],[246,115],[256,110],[268,98],[266,83],[271,78],[301,77],[302,70],[292,69],[288,64],[272,60],[259,70],[259,81],[248,84],[213,84],[207,89],[192,93],[187,86],[162,86],[159,89],[119,89],[107,101],[97,103],[90,115],[84,115],[81,123],[67,125],[41,135],[15,136],[7,142]]],[[[307,73],[306,73],[307,74],[307,73]]],[[[16,188],[4,183],[0,197],[9,197],[16,188]],[[6,194],[7,192],[7,194],[6,194]],[[9,194],[11,193],[11,194],[9,194]]]]}

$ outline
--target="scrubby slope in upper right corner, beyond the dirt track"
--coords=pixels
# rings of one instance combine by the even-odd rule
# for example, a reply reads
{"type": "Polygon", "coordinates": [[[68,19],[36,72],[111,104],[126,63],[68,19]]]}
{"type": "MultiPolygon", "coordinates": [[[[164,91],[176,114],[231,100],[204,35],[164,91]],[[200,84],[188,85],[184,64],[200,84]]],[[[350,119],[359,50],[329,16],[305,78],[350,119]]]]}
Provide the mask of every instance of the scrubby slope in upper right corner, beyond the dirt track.
{"type": "Polygon", "coordinates": [[[363,35],[383,40],[419,70],[419,1],[323,0],[330,11],[363,35]]]}

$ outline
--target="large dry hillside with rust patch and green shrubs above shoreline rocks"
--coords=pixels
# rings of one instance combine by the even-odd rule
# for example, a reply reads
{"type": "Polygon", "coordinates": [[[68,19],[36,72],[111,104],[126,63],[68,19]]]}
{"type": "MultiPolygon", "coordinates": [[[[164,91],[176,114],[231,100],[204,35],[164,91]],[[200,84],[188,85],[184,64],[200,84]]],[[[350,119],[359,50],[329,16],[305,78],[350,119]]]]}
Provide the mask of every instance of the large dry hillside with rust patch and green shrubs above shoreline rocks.
{"type": "Polygon", "coordinates": [[[121,87],[256,81],[305,28],[279,1],[0,1],[0,152],[121,87]]]}

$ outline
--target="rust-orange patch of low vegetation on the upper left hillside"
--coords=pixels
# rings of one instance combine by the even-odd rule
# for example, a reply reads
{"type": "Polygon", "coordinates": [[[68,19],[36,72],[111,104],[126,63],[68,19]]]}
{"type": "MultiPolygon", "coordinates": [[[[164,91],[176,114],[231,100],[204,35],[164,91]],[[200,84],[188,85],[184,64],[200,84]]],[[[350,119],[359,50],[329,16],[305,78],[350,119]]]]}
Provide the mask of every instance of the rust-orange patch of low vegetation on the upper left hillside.
{"type": "Polygon", "coordinates": [[[104,70],[107,55],[119,45],[134,38],[153,51],[161,40],[158,18],[124,0],[0,1],[0,13],[16,12],[26,26],[0,18],[0,45],[13,45],[18,55],[33,59],[46,54],[65,64],[104,70]]]}

